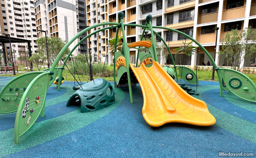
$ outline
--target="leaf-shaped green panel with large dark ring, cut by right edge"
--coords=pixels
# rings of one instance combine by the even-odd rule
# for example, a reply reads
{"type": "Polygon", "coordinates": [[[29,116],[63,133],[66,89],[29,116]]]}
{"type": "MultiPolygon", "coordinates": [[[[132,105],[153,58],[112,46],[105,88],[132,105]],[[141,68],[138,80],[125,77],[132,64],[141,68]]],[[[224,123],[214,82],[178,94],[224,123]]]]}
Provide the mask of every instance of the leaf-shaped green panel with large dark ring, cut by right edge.
{"type": "Polygon", "coordinates": [[[232,69],[220,70],[224,70],[224,82],[233,94],[247,101],[256,102],[256,86],[249,77],[232,69]]]}

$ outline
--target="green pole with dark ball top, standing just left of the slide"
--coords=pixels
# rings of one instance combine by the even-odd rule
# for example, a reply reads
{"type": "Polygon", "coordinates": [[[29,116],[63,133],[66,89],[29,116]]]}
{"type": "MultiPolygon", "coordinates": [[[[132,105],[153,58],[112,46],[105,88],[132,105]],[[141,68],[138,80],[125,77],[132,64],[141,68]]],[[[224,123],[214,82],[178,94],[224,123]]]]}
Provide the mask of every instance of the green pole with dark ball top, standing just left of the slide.
{"type": "Polygon", "coordinates": [[[127,70],[127,78],[128,78],[128,85],[129,85],[129,93],[130,93],[130,102],[133,103],[133,93],[131,90],[131,77],[130,77],[130,52],[127,51],[127,43],[125,41],[125,28],[123,26],[123,17],[125,14],[120,11],[118,13],[118,18],[121,21],[121,28],[123,32],[123,49],[125,51],[125,60],[126,60],[126,70],[127,70]]]}

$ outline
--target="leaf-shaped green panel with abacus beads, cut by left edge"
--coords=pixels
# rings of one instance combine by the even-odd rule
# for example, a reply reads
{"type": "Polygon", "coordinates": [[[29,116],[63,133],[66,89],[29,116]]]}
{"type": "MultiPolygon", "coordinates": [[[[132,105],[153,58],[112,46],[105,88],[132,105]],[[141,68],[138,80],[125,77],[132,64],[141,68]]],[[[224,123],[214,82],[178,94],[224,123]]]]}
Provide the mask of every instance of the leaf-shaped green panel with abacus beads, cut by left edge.
{"type": "Polygon", "coordinates": [[[19,102],[26,88],[40,73],[43,72],[34,71],[24,73],[9,81],[0,92],[0,113],[15,112],[18,109],[19,102]]]}

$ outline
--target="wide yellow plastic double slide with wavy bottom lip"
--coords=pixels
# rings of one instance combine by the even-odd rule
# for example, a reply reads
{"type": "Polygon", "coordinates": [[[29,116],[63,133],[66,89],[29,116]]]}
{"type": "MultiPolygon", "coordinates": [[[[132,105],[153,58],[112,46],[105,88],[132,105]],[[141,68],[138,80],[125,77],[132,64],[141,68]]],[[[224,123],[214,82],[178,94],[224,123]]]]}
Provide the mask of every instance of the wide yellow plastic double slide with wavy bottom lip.
{"type": "Polygon", "coordinates": [[[130,67],[142,89],[142,113],[149,125],[159,127],[172,122],[197,126],[215,124],[206,104],[186,93],[158,62],[153,61],[151,67],[143,63],[138,68],[132,64],[130,67]]]}

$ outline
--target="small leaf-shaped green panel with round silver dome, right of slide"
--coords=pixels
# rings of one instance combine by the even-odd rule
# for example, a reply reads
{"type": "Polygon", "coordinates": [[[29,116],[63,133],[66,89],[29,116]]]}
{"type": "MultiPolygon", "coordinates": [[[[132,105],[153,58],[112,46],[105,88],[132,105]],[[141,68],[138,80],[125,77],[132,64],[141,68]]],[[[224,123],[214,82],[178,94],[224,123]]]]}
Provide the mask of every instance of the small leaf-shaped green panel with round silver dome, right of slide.
{"type": "Polygon", "coordinates": [[[177,67],[179,68],[180,76],[184,81],[191,84],[196,84],[196,83],[198,84],[198,78],[196,76],[196,73],[194,73],[193,70],[185,66],[183,67],[177,66],[177,67]],[[181,75],[181,72],[182,72],[182,75],[181,75]]]}

